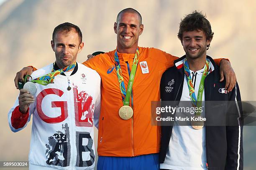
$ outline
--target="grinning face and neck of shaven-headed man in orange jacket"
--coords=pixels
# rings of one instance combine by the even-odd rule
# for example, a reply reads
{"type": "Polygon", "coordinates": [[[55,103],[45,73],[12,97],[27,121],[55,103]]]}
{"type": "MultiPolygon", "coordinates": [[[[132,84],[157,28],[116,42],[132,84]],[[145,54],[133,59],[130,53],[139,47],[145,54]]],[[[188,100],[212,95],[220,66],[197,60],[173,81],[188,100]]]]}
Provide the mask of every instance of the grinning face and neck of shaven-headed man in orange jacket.
{"type": "Polygon", "coordinates": [[[114,25],[114,30],[117,34],[118,52],[135,53],[138,47],[138,38],[143,32],[143,24],[140,24],[138,14],[129,12],[120,14],[114,25]]]}

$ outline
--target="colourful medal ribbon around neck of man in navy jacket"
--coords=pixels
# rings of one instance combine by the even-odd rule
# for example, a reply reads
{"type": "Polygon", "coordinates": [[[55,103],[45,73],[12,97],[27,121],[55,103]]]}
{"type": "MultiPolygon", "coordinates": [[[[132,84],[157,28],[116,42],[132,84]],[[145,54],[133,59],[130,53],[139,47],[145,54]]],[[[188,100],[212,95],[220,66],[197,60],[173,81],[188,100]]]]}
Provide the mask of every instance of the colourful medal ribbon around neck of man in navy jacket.
{"type": "MultiPolygon", "coordinates": [[[[187,86],[189,88],[189,96],[191,98],[192,101],[192,105],[193,107],[202,107],[202,94],[205,88],[205,77],[208,75],[208,71],[209,71],[209,67],[210,67],[210,60],[206,59],[206,63],[205,63],[205,70],[202,74],[202,78],[200,81],[200,85],[199,85],[199,90],[198,90],[198,94],[197,94],[197,98],[195,96],[195,89],[194,89],[194,85],[192,82],[192,78],[190,76],[190,71],[189,71],[189,65],[187,62],[187,59],[184,62],[184,70],[185,70],[185,75],[187,78],[187,86]]],[[[201,115],[200,112],[196,112],[195,115],[201,115]]]]}

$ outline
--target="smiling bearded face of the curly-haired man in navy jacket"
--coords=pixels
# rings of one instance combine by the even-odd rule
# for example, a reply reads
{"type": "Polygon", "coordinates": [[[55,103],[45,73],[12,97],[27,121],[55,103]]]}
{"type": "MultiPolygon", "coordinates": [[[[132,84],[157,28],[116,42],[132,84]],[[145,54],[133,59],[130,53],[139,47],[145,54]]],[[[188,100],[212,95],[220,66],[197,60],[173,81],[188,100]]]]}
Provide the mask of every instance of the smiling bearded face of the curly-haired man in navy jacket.
{"type": "Polygon", "coordinates": [[[183,49],[191,59],[206,57],[206,48],[210,42],[202,30],[184,31],[182,35],[183,49]]]}

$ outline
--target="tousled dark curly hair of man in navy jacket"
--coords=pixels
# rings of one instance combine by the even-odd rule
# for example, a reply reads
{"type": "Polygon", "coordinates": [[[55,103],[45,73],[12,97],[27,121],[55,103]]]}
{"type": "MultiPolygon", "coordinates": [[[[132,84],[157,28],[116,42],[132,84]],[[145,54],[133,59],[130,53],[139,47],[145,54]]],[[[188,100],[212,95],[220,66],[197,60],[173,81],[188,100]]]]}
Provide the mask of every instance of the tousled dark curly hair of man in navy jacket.
{"type": "MultiPolygon", "coordinates": [[[[193,11],[191,14],[185,16],[185,18],[179,23],[179,33],[178,38],[182,41],[182,36],[184,31],[194,31],[202,30],[205,32],[206,39],[211,40],[213,37],[213,32],[210,22],[206,19],[206,15],[202,12],[193,11]]],[[[210,44],[207,45],[207,50],[210,44]]]]}

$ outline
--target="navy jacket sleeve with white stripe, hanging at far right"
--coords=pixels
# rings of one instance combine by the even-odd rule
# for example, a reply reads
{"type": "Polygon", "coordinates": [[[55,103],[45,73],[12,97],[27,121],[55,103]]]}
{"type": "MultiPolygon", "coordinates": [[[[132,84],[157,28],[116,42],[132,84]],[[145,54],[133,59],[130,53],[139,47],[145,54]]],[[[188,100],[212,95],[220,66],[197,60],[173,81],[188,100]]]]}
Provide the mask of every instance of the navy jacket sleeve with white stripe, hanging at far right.
{"type": "Polygon", "coordinates": [[[228,94],[226,170],[243,170],[243,113],[238,84],[228,94]]]}

